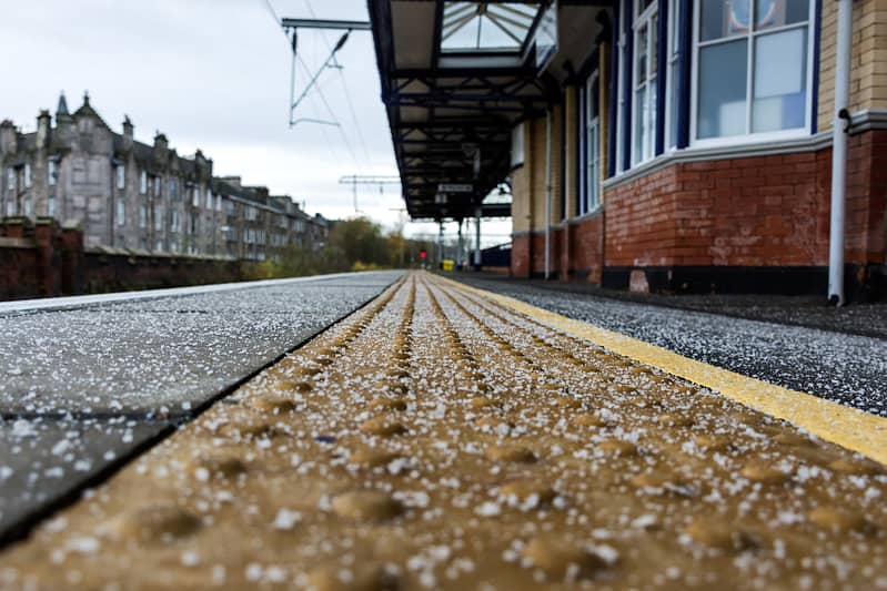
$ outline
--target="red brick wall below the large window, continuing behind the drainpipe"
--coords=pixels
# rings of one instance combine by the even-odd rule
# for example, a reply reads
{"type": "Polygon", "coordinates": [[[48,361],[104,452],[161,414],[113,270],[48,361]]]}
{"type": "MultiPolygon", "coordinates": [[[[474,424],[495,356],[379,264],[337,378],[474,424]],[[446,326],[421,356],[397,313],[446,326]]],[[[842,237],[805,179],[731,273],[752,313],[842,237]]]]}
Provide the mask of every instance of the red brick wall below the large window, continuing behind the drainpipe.
{"type": "MultiPolygon", "coordinates": [[[[606,192],[607,266],[825,266],[831,150],[675,164],[606,192]]],[[[847,263],[885,262],[887,132],[849,142],[847,263]]]]}

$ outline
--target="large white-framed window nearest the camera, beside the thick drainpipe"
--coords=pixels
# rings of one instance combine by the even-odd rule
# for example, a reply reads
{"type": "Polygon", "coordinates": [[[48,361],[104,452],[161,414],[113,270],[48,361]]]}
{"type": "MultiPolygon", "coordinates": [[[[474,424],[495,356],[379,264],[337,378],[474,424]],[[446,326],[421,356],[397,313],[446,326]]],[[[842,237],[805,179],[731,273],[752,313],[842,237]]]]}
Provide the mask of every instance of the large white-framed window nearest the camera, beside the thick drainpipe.
{"type": "Polygon", "coordinates": [[[809,128],[809,0],[702,2],[695,137],[809,128]]]}

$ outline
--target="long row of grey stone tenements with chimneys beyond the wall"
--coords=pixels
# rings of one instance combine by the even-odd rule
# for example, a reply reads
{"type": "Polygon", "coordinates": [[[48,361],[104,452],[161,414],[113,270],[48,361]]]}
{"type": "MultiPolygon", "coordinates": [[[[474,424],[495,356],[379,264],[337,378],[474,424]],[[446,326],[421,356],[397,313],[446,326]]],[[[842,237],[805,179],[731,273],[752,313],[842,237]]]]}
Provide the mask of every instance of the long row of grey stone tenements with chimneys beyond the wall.
{"type": "Polygon", "coordinates": [[[289,245],[321,249],[327,222],[289,196],[214,177],[200,151],[184,157],[158,133],[137,142],[129,118],[111,131],[89,96],[74,113],[59,99],[36,133],[0,123],[0,216],[53,217],[77,223],[87,248],[214,255],[264,261],[289,245]]]}

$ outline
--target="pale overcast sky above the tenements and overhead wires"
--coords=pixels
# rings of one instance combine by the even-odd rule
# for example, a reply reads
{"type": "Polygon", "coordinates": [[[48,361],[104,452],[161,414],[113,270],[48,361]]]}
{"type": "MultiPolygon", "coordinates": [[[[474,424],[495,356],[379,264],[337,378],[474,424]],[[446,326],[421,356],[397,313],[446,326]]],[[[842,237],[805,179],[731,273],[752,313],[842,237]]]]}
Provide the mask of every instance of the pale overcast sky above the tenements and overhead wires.
{"type": "MultiPolygon", "coordinates": [[[[380,100],[372,38],[351,34],[296,118],[335,120],[340,128],[288,125],[291,51],[272,17],[365,20],[365,0],[4,0],[0,39],[0,119],[26,131],[40,109],[54,113],[60,91],[71,110],[89,91],[92,105],[120,132],[123,116],[135,136],[157,131],[180,154],[200,147],[216,175],[304,201],[310,212],[354,215],[351,174],[395,175],[380,100]],[[14,4],[14,9],[10,7],[14,4]],[[329,109],[324,104],[324,99],[329,109]]],[[[296,94],[329,55],[336,32],[302,31],[296,94]],[[309,70],[311,71],[309,74],[309,70]]],[[[403,207],[397,185],[359,187],[360,210],[387,226],[403,207]]],[[[484,242],[505,242],[508,224],[490,224],[484,242]]],[[[451,225],[448,232],[453,232],[451,225]]],[[[410,234],[435,232],[410,224],[410,234]]]]}

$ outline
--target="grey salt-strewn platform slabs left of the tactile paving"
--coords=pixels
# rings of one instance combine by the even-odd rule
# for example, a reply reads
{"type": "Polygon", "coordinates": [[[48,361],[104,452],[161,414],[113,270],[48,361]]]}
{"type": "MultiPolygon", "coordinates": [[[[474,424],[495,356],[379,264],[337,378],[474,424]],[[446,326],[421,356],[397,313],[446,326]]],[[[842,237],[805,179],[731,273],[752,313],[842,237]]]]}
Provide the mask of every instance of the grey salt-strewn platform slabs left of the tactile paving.
{"type": "Polygon", "coordinates": [[[4,306],[0,541],[400,276],[4,306]]]}

